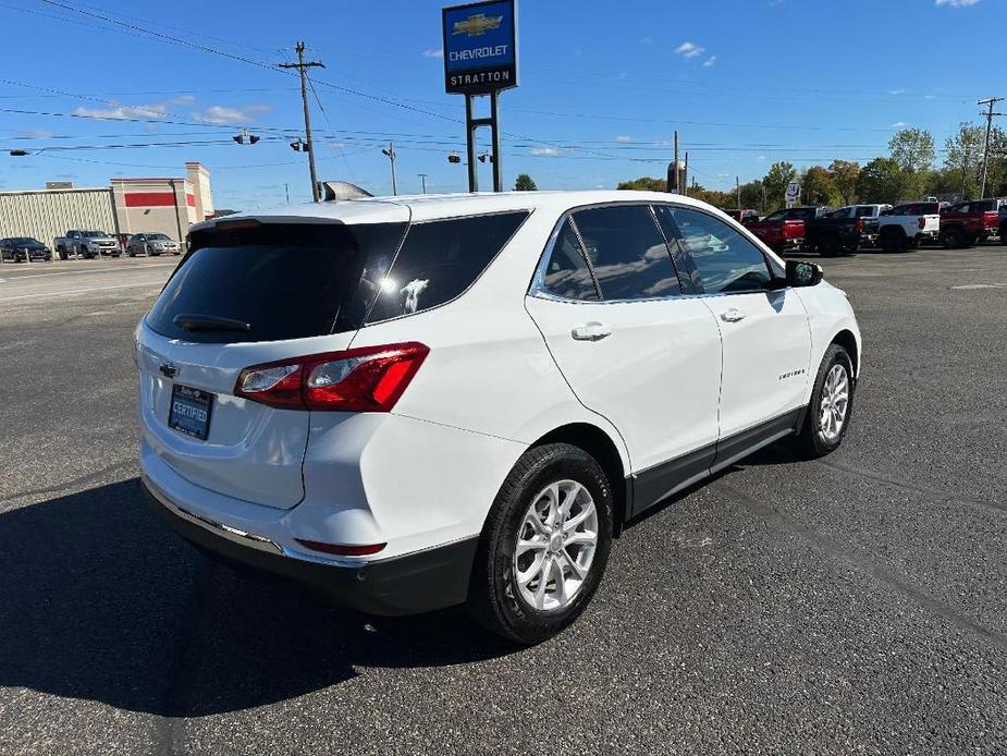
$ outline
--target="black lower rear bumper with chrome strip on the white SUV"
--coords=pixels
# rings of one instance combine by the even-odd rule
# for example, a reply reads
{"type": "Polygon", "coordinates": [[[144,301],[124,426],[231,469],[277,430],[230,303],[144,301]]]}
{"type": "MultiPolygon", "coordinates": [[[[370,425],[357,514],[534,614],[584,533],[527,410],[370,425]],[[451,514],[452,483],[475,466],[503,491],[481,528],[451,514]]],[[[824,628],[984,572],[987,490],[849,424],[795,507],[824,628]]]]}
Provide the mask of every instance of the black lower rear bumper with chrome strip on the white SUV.
{"type": "Polygon", "coordinates": [[[376,561],[293,554],[274,541],[225,527],[177,507],[146,476],[147,504],[172,529],[223,562],[282,575],[369,614],[418,614],[465,601],[479,538],[376,561]]]}

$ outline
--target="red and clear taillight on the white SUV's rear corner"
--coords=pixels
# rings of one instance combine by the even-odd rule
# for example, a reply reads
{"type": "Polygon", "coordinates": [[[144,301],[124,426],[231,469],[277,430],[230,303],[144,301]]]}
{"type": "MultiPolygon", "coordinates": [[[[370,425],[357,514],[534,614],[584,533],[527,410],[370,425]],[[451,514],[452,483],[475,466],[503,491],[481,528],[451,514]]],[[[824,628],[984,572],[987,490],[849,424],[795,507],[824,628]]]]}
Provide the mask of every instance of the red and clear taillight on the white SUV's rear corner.
{"type": "Polygon", "coordinates": [[[429,353],[407,342],[254,365],[234,394],[286,410],[390,412],[429,353]]]}

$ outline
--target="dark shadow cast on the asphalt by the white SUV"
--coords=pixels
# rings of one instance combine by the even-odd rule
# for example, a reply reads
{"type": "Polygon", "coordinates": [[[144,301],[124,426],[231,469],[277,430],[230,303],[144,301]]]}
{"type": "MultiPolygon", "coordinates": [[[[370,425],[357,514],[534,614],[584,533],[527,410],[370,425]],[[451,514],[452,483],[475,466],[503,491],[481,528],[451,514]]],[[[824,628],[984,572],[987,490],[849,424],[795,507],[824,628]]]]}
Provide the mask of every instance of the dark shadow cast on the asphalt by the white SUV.
{"type": "Polygon", "coordinates": [[[518,650],[457,610],[370,619],[238,574],[142,501],[134,478],[0,514],[0,686],[197,717],[322,690],[358,666],[518,650]]]}

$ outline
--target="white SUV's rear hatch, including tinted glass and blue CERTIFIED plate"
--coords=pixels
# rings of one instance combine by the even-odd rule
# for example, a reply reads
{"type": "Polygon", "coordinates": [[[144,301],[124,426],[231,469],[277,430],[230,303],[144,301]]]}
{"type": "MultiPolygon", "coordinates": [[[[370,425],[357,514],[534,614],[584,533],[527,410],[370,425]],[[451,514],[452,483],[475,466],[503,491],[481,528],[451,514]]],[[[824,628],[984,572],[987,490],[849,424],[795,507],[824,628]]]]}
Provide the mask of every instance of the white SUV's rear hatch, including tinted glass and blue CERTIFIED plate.
{"type": "Polygon", "coordinates": [[[346,349],[405,233],[396,220],[240,220],[193,233],[138,329],[144,436],[188,481],[277,508],[304,497],[310,413],[236,397],[242,370],[346,349]]]}

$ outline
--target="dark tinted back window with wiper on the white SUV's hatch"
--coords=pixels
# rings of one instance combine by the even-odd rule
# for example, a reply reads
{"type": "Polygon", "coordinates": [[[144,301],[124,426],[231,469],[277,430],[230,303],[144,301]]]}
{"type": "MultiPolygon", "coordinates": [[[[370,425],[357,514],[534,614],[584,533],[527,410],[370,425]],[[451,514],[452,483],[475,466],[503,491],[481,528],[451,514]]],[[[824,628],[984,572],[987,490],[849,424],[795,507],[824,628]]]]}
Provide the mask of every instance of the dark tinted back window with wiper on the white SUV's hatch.
{"type": "Polygon", "coordinates": [[[354,330],[373,303],[405,228],[251,223],[197,231],[147,325],[172,339],[207,343],[354,330]]]}

